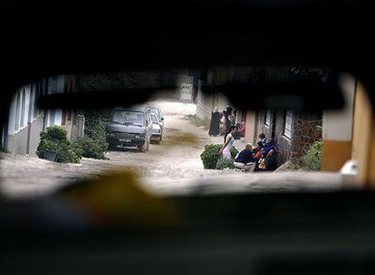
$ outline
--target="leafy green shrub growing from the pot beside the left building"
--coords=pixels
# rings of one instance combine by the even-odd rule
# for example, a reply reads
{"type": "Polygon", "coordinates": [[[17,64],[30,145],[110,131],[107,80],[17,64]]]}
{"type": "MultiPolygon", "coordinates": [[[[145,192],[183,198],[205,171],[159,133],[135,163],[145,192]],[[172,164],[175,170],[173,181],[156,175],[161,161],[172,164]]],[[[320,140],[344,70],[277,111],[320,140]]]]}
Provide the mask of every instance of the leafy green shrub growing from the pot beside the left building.
{"type": "Polygon", "coordinates": [[[41,140],[36,149],[36,155],[43,158],[44,152],[57,153],[58,162],[79,163],[82,156],[79,151],[68,141],[66,131],[58,126],[47,128],[40,133],[41,140]]]}

